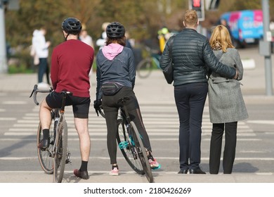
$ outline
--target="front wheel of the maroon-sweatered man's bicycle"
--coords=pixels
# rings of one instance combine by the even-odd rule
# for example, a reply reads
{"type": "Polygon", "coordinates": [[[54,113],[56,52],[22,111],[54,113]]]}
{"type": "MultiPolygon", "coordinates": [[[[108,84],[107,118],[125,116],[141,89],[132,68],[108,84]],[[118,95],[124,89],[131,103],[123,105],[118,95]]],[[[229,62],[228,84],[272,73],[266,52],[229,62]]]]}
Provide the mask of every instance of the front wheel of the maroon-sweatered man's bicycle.
{"type": "Polygon", "coordinates": [[[38,146],[41,141],[43,141],[43,132],[41,129],[41,122],[39,122],[39,126],[37,129],[37,153],[38,153],[38,158],[39,158],[39,163],[41,165],[42,170],[46,172],[46,174],[53,174],[53,155],[51,155],[52,150],[53,150],[53,144],[54,144],[54,120],[53,120],[53,115],[51,115],[51,125],[49,128],[49,140],[50,144],[48,146],[48,150],[42,151],[38,146]]]}

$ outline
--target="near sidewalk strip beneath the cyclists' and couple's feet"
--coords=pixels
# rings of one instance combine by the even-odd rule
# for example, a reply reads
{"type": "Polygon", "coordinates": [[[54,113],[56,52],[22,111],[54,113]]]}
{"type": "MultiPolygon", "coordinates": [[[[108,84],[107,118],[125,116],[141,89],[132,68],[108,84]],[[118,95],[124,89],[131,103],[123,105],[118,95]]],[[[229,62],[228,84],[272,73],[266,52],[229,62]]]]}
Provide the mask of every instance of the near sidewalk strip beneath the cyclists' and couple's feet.
{"type": "MultiPolygon", "coordinates": [[[[177,174],[177,172],[152,172],[155,183],[274,183],[274,174],[177,174]]],[[[110,176],[107,172],[89,172],[89,179],[79,179],[65,171],[63,183],[148,183],[146,177],[135,172],[121,172],[110,176]]],[[[39,172],[0,172],[0,183],[52,183],[53,174],[39,172]]]]}

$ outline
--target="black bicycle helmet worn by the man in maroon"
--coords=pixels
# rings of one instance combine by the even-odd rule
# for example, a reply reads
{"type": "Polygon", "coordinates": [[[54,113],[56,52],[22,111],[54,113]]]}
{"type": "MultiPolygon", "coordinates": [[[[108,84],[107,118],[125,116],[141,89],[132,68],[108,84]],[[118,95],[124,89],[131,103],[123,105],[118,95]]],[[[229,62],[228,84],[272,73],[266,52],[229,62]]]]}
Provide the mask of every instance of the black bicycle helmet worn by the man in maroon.
{"type": "Polygon", "coordinates": [[[79,34],[81,32],[81,22],[77,18],[66,18],[62,23],[62,29],[67,34],[79,34]]]}

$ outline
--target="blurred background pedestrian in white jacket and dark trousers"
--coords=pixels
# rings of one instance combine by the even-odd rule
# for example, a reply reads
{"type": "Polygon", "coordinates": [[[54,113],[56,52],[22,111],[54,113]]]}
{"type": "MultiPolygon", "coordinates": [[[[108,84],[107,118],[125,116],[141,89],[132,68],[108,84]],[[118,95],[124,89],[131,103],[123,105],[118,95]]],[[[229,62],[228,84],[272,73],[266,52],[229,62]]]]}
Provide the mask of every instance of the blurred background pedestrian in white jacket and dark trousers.
{"type": "Polygon", "coordinates": [[[43,77],[46,74],[46,81],[51,84],[49,80],[49,67],[48,67],[48,47],[51,42],[46,42],[46,28],[41,27],[40,30],[34,30],[32,37],[32,47],[35,51],[35,56],[39,58],[38,63],[38,85],[44,85],[43,77]]]}

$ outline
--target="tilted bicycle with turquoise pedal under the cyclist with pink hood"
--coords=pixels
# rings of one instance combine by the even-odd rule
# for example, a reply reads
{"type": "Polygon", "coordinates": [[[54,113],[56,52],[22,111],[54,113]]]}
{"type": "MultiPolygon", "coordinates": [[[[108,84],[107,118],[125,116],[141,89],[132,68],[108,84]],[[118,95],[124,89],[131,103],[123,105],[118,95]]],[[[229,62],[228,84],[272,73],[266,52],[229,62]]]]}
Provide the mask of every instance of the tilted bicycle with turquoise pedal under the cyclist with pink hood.
{"type": "MultiPolygon", "coordinates": [[[[119,149],[122,151],[122,155],[129,163],[129,166],[138,174],[145,174],[148,182],[154,182],[150,164],[148,163],[147,151],[143,146],[142,136],[139,134],[138,129],[133,121],[129,117],[129,112],[125,106],[129,97],[120,98],[119,115],[117,119],[118,133],[116,136],[119,149]]],[[[105,117],[103,111],[99,110],[100,115],[105,117]]]]}

